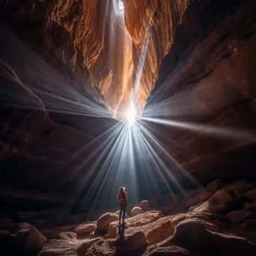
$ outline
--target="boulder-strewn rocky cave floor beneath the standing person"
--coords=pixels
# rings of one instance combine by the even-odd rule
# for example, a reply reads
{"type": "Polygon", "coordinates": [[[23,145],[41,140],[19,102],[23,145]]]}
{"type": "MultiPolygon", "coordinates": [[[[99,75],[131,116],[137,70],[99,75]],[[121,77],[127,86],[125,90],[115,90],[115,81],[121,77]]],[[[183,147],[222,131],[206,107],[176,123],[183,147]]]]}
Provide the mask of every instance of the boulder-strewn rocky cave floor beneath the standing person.
{"type": "MultiPolygon", "coordinates": [[[[42,218],[43,213],[35,212],[19,217],[32,220],[36,214],[42,218]]],[[[1,255],[256,255],[256,182],[252,180],[214,180],[206,188],[142,201],[128,214],[125,225],[118,225],[115,212],[94,222],[48,230],[1,218],[1,255]]]]}

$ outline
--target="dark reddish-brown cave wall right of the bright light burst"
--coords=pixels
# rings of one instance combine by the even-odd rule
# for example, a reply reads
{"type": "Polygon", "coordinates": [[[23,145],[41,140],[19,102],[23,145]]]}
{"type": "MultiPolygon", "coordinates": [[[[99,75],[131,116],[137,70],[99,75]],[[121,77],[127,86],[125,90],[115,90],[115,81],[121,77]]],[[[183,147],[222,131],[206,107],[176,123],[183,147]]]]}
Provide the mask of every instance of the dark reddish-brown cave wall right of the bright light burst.
{"type": "Polygon", "coordinates": [[[145,121],[178,180],[255,177],[255,1],[194,1],[174,33],[145,121]]]}

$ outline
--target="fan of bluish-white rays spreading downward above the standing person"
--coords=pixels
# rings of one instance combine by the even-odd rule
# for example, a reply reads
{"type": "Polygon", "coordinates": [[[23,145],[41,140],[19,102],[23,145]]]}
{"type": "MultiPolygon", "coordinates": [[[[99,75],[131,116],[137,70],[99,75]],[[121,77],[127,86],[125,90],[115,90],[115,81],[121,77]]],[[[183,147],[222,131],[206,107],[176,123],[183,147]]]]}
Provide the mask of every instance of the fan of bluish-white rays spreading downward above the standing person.
{"type": "MultiPolygon", "coordinates": [[[[114,188],[118,188],[121,185],[126,186],[126,175],[132,180],[133,189],[140,186],[138,177],[136,177],[138,172],[135,172],[135,170],[138,171],[138,166],[135,164],[135,156],[141,167],[144,168],[144,170],[141,170],[140,176],[147,175],[147,179],[150,180],[154,191],[165,189],[168,193],[173,192],[169,183],[171,180],[175,183],[175,187],[178,187],[183,192],[183,188],[177,182],[174,174],[171,173],[171,170],[158,154],[159,150],[165,152],[166,155],[168,153],[156,141],[156,138],[150,135],[147,129],[143,128],[142,131],[139,129],[126,129],[126,126],[120,123],[120,126],[113,132],[112,138],[106,141],[106,145],[103,145],[103,150],[104,153],[100,152],[97,155],[97,161],[94,162],[91,175],[95,174],[95,172],[97,174],[84,198],[85,202],[92,202],[91,208],[94,208],[99,201],[103,201],[103,197],[106,195],[109,195],[108,198],[115,198],[116,190],[114,188]],[[124,172],[124,167],[128,168],[128,173],[124,172]],[[147,171],[150,171],[150,173],[147,173],[147,171]],[[159,184],[161,184],[161,188],[159,188],[159,184]]],[[[171,157],[169,156],[169,158],[171,157]]],[[[85,183],[88,181],[87,174],[84,180],[85,183]]],[[[85,183],[83,185],[88,186],[85,183]]],[[[135,195],[137,193],[135,192],[135,195]]],[[[183,195],[186,196],[186,193],[183,192],[183,195]]],[[[174,200],[176,200],[175,197],[174,200]]],[[[108,204],[106,199],[104,204],[108,204]]]]}

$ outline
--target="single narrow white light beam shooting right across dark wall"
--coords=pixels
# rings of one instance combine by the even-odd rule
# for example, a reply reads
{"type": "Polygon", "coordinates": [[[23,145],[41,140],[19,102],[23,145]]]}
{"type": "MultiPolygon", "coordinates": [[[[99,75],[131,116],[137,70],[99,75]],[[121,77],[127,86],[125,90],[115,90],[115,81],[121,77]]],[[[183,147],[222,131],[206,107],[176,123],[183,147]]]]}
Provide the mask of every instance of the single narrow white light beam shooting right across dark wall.
{"type": "Polygon", "coordinates": [[[193,132],[201,132],[217,138],[231,138],[237,140],[255,141],[256,132],[234,129],[231,127],[213,127],[207,124],[195,124],[182,121],[171,121],[159,118],[142,118],[144,121],[150,121],[156,124],[163,124],[180,129],[188,129],[193,132]]]}

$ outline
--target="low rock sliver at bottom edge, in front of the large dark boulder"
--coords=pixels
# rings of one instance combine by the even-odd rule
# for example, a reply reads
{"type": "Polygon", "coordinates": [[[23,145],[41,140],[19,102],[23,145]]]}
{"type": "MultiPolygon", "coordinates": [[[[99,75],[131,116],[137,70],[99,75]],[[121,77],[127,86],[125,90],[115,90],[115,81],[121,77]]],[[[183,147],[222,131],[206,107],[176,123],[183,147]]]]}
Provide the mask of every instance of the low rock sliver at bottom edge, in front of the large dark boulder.
{"type": "Polygon", "coordinates": [[[151,252],[144,253],[143,256],[199,256],[194,252],[189,252],[186,249],[180,248],[178,246],[167,246],[158,247],[151,252]]]}

